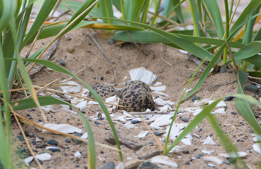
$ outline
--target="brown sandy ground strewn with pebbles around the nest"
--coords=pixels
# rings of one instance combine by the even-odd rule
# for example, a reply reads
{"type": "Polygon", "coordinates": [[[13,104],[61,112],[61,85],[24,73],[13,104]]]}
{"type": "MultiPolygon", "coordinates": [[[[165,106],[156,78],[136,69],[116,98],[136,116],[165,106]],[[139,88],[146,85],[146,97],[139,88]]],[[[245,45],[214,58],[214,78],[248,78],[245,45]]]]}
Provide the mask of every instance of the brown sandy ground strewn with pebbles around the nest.
{"type": "MultiPolygon", "coordinates": [[[[92,67],[93,69],[87,68],[78,74],[78,76],[82,80],[84,80],[92,87],[95,84],[102,84],[103,82],[111,84],[113,79],[112,67],[109,65],[104,56],[102,56],[99,49],[90,39],[90,36],[88,36],[89,33],[90,31],[88,29],[78,29],[67,33],[66,36],[61,37],[57,50],[52,56],[51,60],[55,63],[58,63],[58,60],[60,58],[64,59],[64,57],[66,56],[65,68],[70,70],[74,74],[84,67],[92,67]],[[96,79],[95,73],[97,74],[96,79]],[[100,77],[103,77],[103,80],[101,80],[100,77]]],[[[109,41],[102,38],[100,34],[96,34],[95,38],[106,52],[110,61],[113,63],[113,67],[116,69],[117,81],[115,81],[114,83],[117,85],[114,86],[115,88],[121,88],[123,86],[123,83],[127,83],[128,80],[130,80],[130,76],[128,73],[129,70],[138,67],[145,67],[147,70],[153,71],[153,73],[157,75],[156,81],[162,82],[164,85],[166,85],[166,90],[163,92],[168,94],[169,97],[160,97],[175,102],[173,107],[176,107],[177,102],[180,99],[180,96],[184,89],[184,86],[179,86],[180,84],[189,80],[192,71],[173,68],[166,62],[164,62],[162,58],[167,60],[172,65],[176,65],[178,67],[196,69],[197,65],[187,59],[188,55],[182,54],[177,49],[171,47],[167,47],[166,52],[164,52],[162,44],[144,44],[143,49],[148,53],[148,56],[145,56],[132,43],[125,43],[121,46],[114,46],[110,45],[109,41]],[[124,76],[127,76],[126,80],[124,80],[124,76]]],[[[34,51],[32,52],[35,52],[37,49],[40,49],[41,47],[46,45],[48,41],[50,41],[50,38],[38,41],[35,45],[35,48],[33,49],[34,51]]],[[[22,56],[26,54],[29,46],[30,44],[28,44],[22,51],[22,56]]],[[[198,75],[200,75],[200,73],[198,73],[198,75]]],[[[33,84],[47,84],[57,78],[68,79],[69,76],[44,68],[34,78],[32,78],[32,82],[33,84]]],[[[202,99],[211,98],[211,100],[215,100],[225,95],[235,94],[237,92],[237,82],[220,87],[212,86],[217,84],[226,84],[236,79],[237,75],[234,71],[232,73],[217,73],[214,76],[210,76],[206,78],[202,87],[200,87],[200,89],[189,99],[184,101],[180,107],[195,107],[193,106],[193,102],[191,101],[191,98],[193,98],[195,95],[200,96],[202,99]],[[209,92],[208,88],[210,89],[209,92]]],[[[79,83],[79,81],[75,81],[79,83]]],[[[193,88],[196,83],[197,80],[193,81],[189,88],[193,88]]],[[[155,82],[153,84],[155,84],[155,82]]],[[[153,84],[151,84],[151,86],[153,86],[153,84]]],[[[247,82],[246,84],[249,83],[247,82]]],[[[59,87],[53,88],[58,89],[59,87]]],[[[81,93],[78,94],[80,95],[81,93]]],[[[153,97],[157,96],[155,93],[151,94],[153,95],[153,97]]],[[[250,94],[257,99],[260,98],[258,97],[258,95],[254,95],[252,92],[246,92],[246,94],[250,94]]],[[[21,98],[21,95],[13,95],[12,99],[16,98],[21,98]]],[[[215,117],[217,117],[217,119],[219,120],[218,123],[221,124],[221,128],[230,137],[231,142],[238,148],[238,150],[248,153],[247,157],[243,158],[245,163],[252,168],[257,168],[260,157],[258,153],[256,153],[252,148],[252,145],[255,142],[253,142],[253,136],[251,136],[252,133],[249,132],[251,126],[246,122],[246,120],[244,120],[244,118],[235,108],[235,99],[230,102],[226,102],[226,104],[226,114],[216,114],[215,117]],[[231,114],[231,112],[236,112],[237,114],[234,115],[231,114]]],[[[48,123],[71,124],[85,131],[85,126],[81,121],[79,115],[75,115],[73,113],[65,111],[64,109],[61,109],[61,106],[53,106],[52,108],[56,110],[56,113],[44,111],[46,117],[49,120],[48,123]]],[[[253,107],[253,110],[255,109],[257,110],[256,113],[258,113],[259,109],[253,107]]],[[[95,131],[95,140],[97,142],[116,147],[115,145],[112,145],[105,140],[106,138],[108,138],[108,135],[110,133],[110,126],[108,122],[106,120],[98,120],[98,122],[101,124],[97,125],[94,123],[97,120],[92,120],[93,117],[91,116],[95,116],[97,111],[101,111],[99,106],[92,105],[84,109],[84,111],[86,111],[88,120],[92,125],[93,131],[95,131]]],[[[43,120],[40,112],[37,109],[18,111],[18,113],[36,123],[38,123],[39,120],[43,120]]],[[[114,111],[113,113],[115,114],[115,117],[122,115],[122,111],[119,110],[114,111]]],[[[194,118],[192,114],[183,117],[187,117],[189,119],[194,118]]],[[[259,118],[257,120],[260,121],[259,118]]],[[[179,115],[176,117],[175,122],[181,123],[179,115]]],[[[134,128],[126,128],[124,127],[124,124],[122,122],[120,122],[119,124],[115,124],[115,128],[119,132],[121,132],[125,138],[133,140],[139,145],[143,145],[142,148],[136,151],[131,150],[126,146],[121,146],[124,164],[135,163],[136,161],[140,161],[140,157],[160,150],[151,133],[149,133],[144,138],[135,137],[135,135],[137,136],[141,131],[147,130],[143,122],[139,122],[138,124],[134,125],[134,128]]],[[[43,153],[43,151],[45,150],[45,148],[36,148],[36,146],[50,146],[49,144],[47,144],[50,139],[55,139],[59,143],[58,148],[61,151],[54,152],[50,161],[43,161],[44,168],[84,168],[84,166],[88,163],[88,145],[86,143],[76,145],[69,137],[52,133],[42,134],[41,132],[37,131],[34,126],[30,126],[27,124],[22,124],[22,127],[23,130],[25,130],[29,135],[34,135],[33,137],[28,137],[28,140],[32,146],[32,149],[35,150],[36,154],[43,153]],[[41,138],[41,141],[37,142],[36,145],[33,145],[36,137],[41,138]],[[66,143],[65,139],[70,139],[71,143],[66,143]],[[80,151],[82,156],[74,157],[74,153],[76,151],[80,151]]],[[[222,161],[227,161],[227,159],[218,155],[219,153],[225,153],[225,150],[222,148],[222,145],[220,145],[218,137],[215,135],[215,132],[212,130],[211,125],[209,124],[207,119],[204,119],[198,125],[198,129],[200,128],[202,128],[202,131],[194,129],[191,132],[191,134],[195,133],[199,135],[199,138],[193,136],[193,140],[191,141],[192,144],[189,146],[183,143],[179,143],[178,146],[181,146],[179,148],[180,151],[171,155],[170,159],[177,163],[178,168],[209,168],[207,164],[214,164],[213,162],[202,161],[202,157],[200,159],[193,159],[193,157],[196,157],[198,154],[209,156],[203,154],[202,149],[206,149],[209,151],[214,150],[214,153],[212,153],[211,156],[218,157],[222,159],[222,161]],[[204,139],[206,139],[206,137],[211,134],[213,134],[211,138],[215,142],[215,145],[202,144],[204,139]],[[183,150],[188,150],[189,154],[182,153],[183,150]],[[182,156],[182,158],[179,159],[177,156],[182,156]],[[186,162],[189,162],[189,165],[185,164],[186,162]]],[[[156,131],[154,128],[151,129],[153,132],[156,131]]],[[[165,129],[166,126],[162,126],[162,129],[159,129],[157,132],[164,132],[165,129]]],[[[19,139],[17,138],[19,132],[20,130],[16,122],[12,122],[12,149],[15,151],[18,151],[21,148],[26,148],[24,142],[19,141],[19,139]]],[[[162,135],[156,137],[157,139],[163,138],[162,135]]],[[[164,146],[163,140],[164,139],[162,139],[162,141],[160,142],[164,146]]],[[[171,144],[171,142],[169,144],[171,144]]],[[[96,154],[96,168],[102,168],[109,161],[113,161],[115,165],[119,164],[120,162],[119,155],[114,150],[96,146],[96,154]]],[[[17,157],[18,159],[17,165],[26,168],[25,164],[22,162],[22,159],[18,157],[19,155],[21,154],[18,152],[14,153],[14,157],[17,157]]],[[[150,161],[150,159],[148,159],[148,161],[150,161]]],[[[162,168],[172,168],[167,165],[158,165],[162,168]]],[[[34,161],[31,162],[30,167],[39,168],[36,164],[34,164],[34,161]]],[[[215,164],[215,168],[234,168],[234,166],[232,164],[215,164]]]]}

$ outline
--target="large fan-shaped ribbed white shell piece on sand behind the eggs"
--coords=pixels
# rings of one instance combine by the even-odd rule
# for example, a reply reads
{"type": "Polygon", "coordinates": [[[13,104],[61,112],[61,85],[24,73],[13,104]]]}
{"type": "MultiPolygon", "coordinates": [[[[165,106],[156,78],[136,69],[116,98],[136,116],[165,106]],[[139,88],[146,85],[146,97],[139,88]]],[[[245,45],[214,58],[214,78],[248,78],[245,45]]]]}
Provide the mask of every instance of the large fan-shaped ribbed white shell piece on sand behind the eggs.
{"type": "Polygon", "coordinates": [[[131,76],[131,81],[140,80],[148,85],[157,79],[157,76],[153,74],[153,72],[146,70],[144,67],[131,69],[129,70],[129,74],[131,76]]]}

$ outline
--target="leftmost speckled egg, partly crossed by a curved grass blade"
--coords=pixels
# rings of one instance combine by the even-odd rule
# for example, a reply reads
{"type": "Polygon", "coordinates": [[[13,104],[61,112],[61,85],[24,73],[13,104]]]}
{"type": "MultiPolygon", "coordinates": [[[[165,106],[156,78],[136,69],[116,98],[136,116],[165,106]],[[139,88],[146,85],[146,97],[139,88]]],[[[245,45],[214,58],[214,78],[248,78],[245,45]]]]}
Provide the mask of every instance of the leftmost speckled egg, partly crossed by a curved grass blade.
{"type": "MultiPolygon", "coordinates": [[[[119,98],[117,91],[113,87],[111,87],[107,84],[98,84],[93,87],[93,90],[95,90],[98,93],[98,95],[101,97],[101,99],[104,102],[108,97],[111,97],[114,95],[116,95],[116,97],[119,98]]],[[[88,94],[88,98],[94,99],[94,97],[91,93],[88,94]]]]}

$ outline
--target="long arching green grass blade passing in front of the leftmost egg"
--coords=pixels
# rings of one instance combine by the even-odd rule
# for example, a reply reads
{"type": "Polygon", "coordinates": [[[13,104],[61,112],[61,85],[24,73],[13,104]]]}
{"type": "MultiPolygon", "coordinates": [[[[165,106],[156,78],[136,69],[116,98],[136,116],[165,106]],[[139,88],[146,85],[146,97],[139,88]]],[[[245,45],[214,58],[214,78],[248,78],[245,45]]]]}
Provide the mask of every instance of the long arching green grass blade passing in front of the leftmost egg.
{"type": "MultiPolygon", "coordinates": [[[[7,58],[6,60],[13,60],[12,58],[7,58]]],[[[113,122],[110,118],[110,114],[106,108],[106,106],[103,104],[102,102],[102,99],[99,97],[99,95],[93,90],[92,87],[90,87],[88,84],[86,84],[83,80],[81,80],[78,76],[74,75],[72,72],[68,71],[67,69],[65,69],[64,67],[61,67],[53,62],[51,62],[50,60],[42,60],[42,59],[30,59],[30,58],[23,58],[24,61],[29,61],[29,62],[34,62],[34,63],[38,63],[38,64],[41,64],[41,65],[44,65],[46,67],[49,67],[50,69],[53,69],[55,71],[58,71],[60,73],[64,73],[64,74],[68,74],[70,76],[73,76],[75,79],[79,80],[89,91],[90,93],[92,93],[93,97],[97,100],[97,102],[99,103],[99,105],[101,106],[102,108],[102,111],[105,113],[106,117],[107,117],[107,120],[110,124],[110,127],[113,131],[113,135],[115,137],[115,142],[117,144],[117,148],[120,150],[121,147],[119,145],[119,139],[118,139],[118,136],[117,136],[117,132],[116,132],[116,129],[113,125],[113,122]]],[[[120,159],[122,161],[122,153],[119,151],[119,156],[120,156],[120,159]]]]}

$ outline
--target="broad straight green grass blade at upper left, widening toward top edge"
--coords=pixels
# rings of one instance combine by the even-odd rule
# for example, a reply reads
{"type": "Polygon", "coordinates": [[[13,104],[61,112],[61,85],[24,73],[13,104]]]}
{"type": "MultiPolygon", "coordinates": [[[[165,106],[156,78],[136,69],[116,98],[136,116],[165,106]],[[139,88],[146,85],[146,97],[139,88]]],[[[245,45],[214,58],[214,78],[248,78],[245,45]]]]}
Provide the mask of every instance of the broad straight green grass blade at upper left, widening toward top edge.
{"type": "Polygon", "coordinates": [[[28,40],[37,32],[39,27],[44,23],[48,15],[50,14],[52,8],[54,7],[57,0],[45,0],[34,23],[32,24],[30,30],[28,31],[26,37],[23,40],[22,48],[28,43],[28,40]]]}

